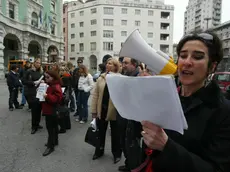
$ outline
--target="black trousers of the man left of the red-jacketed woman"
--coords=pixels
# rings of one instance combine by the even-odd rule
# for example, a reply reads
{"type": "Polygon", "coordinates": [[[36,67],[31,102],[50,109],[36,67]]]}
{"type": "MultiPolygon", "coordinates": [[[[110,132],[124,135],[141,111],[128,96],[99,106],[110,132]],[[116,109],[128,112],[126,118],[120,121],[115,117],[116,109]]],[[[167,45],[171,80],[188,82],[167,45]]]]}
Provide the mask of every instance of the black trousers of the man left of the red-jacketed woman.
{"type": "Polygon", "coordinates": [[[32,129],[37,129],[39,126],[39,123],[41,121],[41,103],[38,99],[31,102],[31,122],[32,122],[32,129]]]}

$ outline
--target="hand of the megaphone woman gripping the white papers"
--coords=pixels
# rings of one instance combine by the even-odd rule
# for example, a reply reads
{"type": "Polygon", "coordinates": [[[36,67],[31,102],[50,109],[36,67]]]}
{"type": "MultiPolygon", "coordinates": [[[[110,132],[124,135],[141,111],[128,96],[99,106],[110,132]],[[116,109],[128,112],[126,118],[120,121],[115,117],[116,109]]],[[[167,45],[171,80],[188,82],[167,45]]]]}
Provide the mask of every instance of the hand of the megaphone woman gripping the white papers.
{"type": "Polygon", "coordinates": [[[164,130],[148,121],[143,121],[141,124],[143,128],[141,134],[148,148],[163,151],[168,141],[168,136],[164,130]]]}

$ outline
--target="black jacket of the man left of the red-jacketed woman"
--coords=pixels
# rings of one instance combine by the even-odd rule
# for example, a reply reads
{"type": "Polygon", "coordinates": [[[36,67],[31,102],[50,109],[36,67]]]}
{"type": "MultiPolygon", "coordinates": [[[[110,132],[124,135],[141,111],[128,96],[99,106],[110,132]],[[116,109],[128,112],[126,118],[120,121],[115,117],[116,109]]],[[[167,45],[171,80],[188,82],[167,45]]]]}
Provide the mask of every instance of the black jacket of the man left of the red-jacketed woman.
{"type": "Polygon", "coordinates": [[[35,86],[34,81],[37,81],[41,78],[43,73],[39,71],[34,71],[33,69],[29,69],[26,71],[22,83],[26,87],[24,88],[24,94],[28,97],[28,101],[35,101],[36,100],[36,94],[37,94],[37,86],[35,86]]]}

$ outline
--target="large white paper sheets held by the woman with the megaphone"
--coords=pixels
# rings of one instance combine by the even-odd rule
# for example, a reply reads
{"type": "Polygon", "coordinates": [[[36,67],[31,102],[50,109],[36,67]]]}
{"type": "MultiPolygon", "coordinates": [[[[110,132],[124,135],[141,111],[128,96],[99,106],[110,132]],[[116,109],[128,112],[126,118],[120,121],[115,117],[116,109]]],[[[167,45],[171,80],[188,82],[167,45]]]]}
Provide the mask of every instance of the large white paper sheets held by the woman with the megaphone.
{"type": "Polygon", "coordinates": [[[107,75],[106,81],[119,114],[134,121],[150,121],[181,134],[188,128],[172,76],[107,75]]]}

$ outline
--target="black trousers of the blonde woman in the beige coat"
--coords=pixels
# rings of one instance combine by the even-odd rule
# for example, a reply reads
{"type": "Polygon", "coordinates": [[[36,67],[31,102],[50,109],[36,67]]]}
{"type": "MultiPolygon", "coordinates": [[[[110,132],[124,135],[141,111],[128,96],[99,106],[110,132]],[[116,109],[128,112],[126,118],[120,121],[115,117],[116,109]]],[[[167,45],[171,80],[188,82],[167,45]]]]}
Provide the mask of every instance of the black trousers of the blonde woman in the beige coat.
{"type": "MultiPolygon", "coordinates": [[[[97,126],[99,129],[100,144],[99,144],[99,147],[96,149],[102,150],[105,147],[105,137],[106,137],[106,131],[108,128],[108,121],[106,121],[104,119],[98,119],[97,120],[97,126]]],[[[120,145],[120,134],[119,134],[117,121],[110,121],[110,127],[111,127],[112,154],[114,157],[121,157],[122,149],[121,149],[121,145],[120,145]]]]}

